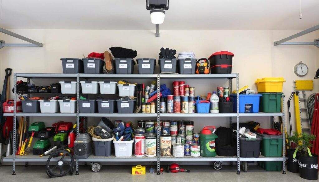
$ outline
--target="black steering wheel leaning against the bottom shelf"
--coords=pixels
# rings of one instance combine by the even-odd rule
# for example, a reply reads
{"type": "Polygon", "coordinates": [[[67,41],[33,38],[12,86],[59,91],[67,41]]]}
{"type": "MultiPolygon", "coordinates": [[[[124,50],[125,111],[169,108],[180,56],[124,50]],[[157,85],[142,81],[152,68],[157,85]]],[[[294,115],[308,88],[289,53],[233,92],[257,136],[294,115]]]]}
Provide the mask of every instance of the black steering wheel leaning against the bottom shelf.
{"type": "Polygon", "coordinates": [[[46,167],[47,167],[47,175],[50,178],[52,178],[53,176],[62,177],[62,176],[65,176],[68,173],[70,173],[72,175],[73,172],[74,172],[74,159],[73,159],[73,156],[72,156],[72,154],[69,151],[67,151],[65,149],[56,150],[53,153],[51,153],[51,155],[49,156],[49,158],[47,160],[46,167]],[[62,156],[60,156],[61,153],[63,153],[62,156]],[[64,157],[67,156],[67,155],[70,156],[71,161],[65,161],[64,160],[64,157]],[[58,161],[56,162],[56,165],[54,165],[54,166],[51,165],[50,166],[50,160],[52,158],[54,158],[54,157],[56,157],[56,158],[61,157],[61,158],[58,159],[58,161]],[[67,169],[67,170],[65,170],[65,169],[67,169]]]}

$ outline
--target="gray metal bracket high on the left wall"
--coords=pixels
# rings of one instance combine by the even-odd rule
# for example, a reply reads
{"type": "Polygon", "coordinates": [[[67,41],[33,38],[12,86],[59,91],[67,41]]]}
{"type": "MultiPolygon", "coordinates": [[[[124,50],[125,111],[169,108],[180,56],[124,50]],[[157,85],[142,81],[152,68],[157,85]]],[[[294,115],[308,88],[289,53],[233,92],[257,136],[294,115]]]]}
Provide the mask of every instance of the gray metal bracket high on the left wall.
{"type": "Polygon", "coordinates": [[[34,41],[32,39],[28,39],[22,35],[19,35],[17,33],[13,33],[9,30],[4,29],[4,28],[0,28],[0,32],[31,43],[31,44],[7,44],[7,43],[5,43],[4,40],[0,40],[0,49],[3,47],[43,47],[43,44],[40,42],[34,41]]]}

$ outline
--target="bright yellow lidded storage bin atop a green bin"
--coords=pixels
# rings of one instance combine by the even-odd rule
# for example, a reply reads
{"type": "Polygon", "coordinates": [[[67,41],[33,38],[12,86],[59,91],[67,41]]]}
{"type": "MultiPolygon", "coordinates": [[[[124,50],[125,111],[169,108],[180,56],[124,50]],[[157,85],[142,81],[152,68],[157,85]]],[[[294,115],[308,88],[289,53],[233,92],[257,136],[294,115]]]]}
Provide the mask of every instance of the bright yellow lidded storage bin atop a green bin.
{"type": "Polygon", "coordinates": [[[286,82],[283,77],[257,79],[258,92],[282,92],[282,84],[286,82]]]}

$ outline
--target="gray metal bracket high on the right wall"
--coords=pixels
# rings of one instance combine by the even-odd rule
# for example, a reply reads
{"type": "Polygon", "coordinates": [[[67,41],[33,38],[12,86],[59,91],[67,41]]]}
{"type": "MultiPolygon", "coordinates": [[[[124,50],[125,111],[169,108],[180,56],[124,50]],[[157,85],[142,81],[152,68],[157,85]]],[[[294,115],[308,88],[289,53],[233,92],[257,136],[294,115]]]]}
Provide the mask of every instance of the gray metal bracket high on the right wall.
{"type": "Polygon", "coordinates": [[[295,38],[300,37],[302,35],[306,35],[307,33],[314,32],[316,30],[319,30],[319,25],[308,28],[307,30],[301,31],[301,32],[296,33],[294,35],[291,35],[285,39],[278,40],[278,41],[274,42],[274,46],[278,46],[278,45],[315,45],[316,47],[319,47],[319,39],[315,39],[313,42],[287,42],[289,40],[295,39],[295,38]]]}

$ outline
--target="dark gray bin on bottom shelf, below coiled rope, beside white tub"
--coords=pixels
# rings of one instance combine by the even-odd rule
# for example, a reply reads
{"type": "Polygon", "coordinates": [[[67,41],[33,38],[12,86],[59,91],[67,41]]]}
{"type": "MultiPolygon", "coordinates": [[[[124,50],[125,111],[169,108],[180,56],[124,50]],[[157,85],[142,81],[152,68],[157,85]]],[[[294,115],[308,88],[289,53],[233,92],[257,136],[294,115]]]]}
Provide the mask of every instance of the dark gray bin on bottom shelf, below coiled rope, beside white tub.
{"type": "Polygon", "coordinates": [[[112,152],[112,141],[114,140],[114,134],[108,139],[97,139],[92,137],[94,144],[94,155],[107,157],[111,155],[112,152]]]}

